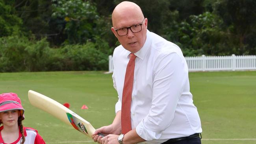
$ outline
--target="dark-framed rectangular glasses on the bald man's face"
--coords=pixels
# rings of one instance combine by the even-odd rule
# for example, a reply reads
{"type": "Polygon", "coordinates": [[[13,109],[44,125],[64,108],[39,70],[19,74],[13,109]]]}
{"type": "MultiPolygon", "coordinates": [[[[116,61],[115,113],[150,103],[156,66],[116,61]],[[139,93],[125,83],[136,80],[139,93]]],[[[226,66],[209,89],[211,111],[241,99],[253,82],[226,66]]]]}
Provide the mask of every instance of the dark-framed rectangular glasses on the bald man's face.
{"type": "Polygon", "coordinates": [[[141,25],[143,24],[144,20],[141,22],[141,24],[135,24],[135,25],[132,25],[132,26],[126,27],[126,28],[119,28],[117,30],[114,28],[114,30],[117,32],[117,34],[119,36],[127,35],[128,34],[128,29],[130,29],[133,33],[138,33],[142,29],[141,25]]]}

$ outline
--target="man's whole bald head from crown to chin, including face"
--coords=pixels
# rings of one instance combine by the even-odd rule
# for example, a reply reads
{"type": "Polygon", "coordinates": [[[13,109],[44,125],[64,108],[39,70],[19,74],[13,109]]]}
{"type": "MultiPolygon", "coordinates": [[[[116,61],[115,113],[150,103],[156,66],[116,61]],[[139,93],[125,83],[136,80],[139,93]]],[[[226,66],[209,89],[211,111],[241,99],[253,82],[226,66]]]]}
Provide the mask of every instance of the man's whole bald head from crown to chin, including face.
{"type": "Polygon", "coordinates": [[[144,18],[137,4],[121,2],[117,5],[112,13],[112,24],[111,31],[126,50],[136,53],[143,47],[147,39],[148,19],[144,18]],[[120,36],[118,31],[121,30],[127,32],[126,35],[120,36]]]}

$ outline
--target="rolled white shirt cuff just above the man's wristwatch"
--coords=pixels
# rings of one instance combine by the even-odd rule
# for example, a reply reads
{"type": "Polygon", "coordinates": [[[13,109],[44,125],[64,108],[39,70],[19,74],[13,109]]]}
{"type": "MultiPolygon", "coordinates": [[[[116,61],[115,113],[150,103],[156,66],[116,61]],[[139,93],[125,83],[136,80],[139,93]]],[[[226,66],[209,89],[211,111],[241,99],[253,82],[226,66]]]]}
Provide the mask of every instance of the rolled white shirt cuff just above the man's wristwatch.
{"type": "Polygon", "coordinates": [[[154,131],[151,131],[150,129],[147,129],[145,125],[143,124],[143,120],[137,125],[136,127],[136,133],[145,140],[154,140],[159,139],[162,135],[162,133],[155,133],[154,131]]]}

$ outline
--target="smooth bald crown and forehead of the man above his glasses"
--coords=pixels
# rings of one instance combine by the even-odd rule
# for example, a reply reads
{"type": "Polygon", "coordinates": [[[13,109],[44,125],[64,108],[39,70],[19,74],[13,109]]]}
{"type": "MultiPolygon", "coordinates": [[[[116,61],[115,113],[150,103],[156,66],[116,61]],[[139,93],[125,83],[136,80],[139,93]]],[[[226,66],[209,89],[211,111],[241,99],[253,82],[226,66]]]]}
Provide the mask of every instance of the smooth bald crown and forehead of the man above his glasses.
{"type": "Polygon", "coordinates": [[[113,26],[116,24],[117,20],[120,20],[120,18],[138,18],[140,20],[143,20],[144,15],[141,11],[141,8],[137,4],[135,4],[134,2],[124,1],[118,4],[112,13],[113,26]]]}

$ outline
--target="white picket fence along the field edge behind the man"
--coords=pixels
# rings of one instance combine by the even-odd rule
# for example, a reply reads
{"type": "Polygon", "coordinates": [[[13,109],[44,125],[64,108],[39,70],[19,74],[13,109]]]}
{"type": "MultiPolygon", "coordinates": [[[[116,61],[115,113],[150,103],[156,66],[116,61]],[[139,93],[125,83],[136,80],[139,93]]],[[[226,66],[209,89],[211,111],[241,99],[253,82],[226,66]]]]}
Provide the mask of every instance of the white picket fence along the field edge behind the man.
{"type": "MultiPolygon", "coordinates": [[[[256,55],[185,57],[189,72],[256,70],[256,55]]],[[[113,72],[113,59],[109,55],[109,72],[113,72]]]]}

